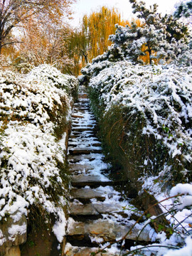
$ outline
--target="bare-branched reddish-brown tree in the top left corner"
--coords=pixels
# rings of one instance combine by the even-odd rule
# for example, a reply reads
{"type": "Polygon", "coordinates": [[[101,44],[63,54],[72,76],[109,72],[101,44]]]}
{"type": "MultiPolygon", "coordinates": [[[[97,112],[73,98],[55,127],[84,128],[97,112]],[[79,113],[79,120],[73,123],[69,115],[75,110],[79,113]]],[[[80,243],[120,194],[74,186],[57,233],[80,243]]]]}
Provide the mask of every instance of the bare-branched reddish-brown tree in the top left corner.
{"type": "Polygon", "coordinates": [[[0,0],[0,53],[4,46],[18,43],[11,36],[14,28],[21,26],[31,16],[39,20],[60,19],[70,15],[70,4],[76,0],[0,0]]]}

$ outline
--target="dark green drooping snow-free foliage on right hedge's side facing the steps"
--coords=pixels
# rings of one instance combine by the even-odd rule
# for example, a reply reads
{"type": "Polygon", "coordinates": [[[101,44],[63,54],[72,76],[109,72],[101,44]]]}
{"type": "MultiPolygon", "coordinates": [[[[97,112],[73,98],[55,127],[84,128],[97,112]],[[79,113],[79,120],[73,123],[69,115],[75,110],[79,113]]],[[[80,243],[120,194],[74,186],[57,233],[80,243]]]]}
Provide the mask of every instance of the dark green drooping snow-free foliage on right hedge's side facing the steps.
{"type": "Polygon", "coordinates": [[[130,114],[132,110],[127,107],[114,106],[101,117],[98,109],[96,114],[100,117],[100,134],[107,157],[113,166],[124,170],[132,185],[135,182],[138,186],[136,181],[143,174],[157,175],[164,169],[168,151],[154,136],[142,134],[145,124],[142,113],[130,114]]]}

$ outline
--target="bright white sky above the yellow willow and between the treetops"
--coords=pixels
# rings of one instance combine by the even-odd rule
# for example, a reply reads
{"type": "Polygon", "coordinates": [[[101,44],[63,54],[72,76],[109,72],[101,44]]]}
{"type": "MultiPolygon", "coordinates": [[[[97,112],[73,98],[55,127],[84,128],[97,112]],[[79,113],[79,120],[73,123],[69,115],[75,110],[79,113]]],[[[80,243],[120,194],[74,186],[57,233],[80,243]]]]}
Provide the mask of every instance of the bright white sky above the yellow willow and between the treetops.
{"type": "MultiPolygon", "coordinates": [[[[179,2],[179,0],[143,0],[146,2],[146,6],[152,4],[158,4],[158,11],[162,14],[170,13],[174,10],[174,5],[179,2]]],[[[122,18],[131,20],[132,5],[129,4],[129,0],[77,0],[76,4],[73,4],[72,9],[74,11],[74,19],[70,21],[72,26],[79,26],[80,20],[83,15],[91,14],[92,11],[100,10],[101,6],[116,7],[121,14],[122,18]]]]}

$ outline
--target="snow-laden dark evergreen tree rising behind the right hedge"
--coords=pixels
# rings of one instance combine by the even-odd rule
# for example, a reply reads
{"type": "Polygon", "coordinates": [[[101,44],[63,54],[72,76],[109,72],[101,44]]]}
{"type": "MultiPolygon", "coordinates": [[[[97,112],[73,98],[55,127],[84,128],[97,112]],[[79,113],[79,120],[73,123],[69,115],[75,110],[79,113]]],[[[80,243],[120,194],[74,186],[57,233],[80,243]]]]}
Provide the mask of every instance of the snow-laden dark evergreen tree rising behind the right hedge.
{"type": "MultiPolygon", "coordinates": [[[[146,8],[143,1],[129,0],[133,13],[143,21],[143,26],[117,26],[117,31],[110,36],[115,46],[120,46],[124,58],[134,63],[144,62],[144,55],[149,56],[149,63],[156,60],[171,60],[182,50],[186,50],[188,28],[173,16],[163,18],[157,12],[157,5],[146,8]]],[[[147,58],[146,58],[147,60],[147,58]]]]}

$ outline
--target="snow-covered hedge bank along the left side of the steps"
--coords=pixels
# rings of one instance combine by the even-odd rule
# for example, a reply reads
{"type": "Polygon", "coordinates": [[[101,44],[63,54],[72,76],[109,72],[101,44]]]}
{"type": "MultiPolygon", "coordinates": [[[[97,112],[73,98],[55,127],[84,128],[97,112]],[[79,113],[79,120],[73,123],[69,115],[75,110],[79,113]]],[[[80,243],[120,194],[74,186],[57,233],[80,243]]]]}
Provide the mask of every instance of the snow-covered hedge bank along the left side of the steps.
{"type": "Polygon", "coordinates": [[[4,255],[19,244],[19,236],[26,241],[28,227],[46,225],[58,242],[63,241],[65,146],[78,82],[41,65],[27,75],[1,71],[0,83],[0,255],[4,255]]]}

